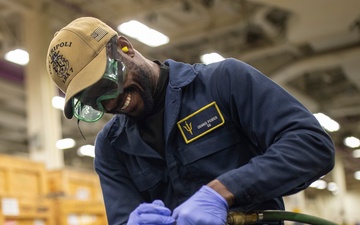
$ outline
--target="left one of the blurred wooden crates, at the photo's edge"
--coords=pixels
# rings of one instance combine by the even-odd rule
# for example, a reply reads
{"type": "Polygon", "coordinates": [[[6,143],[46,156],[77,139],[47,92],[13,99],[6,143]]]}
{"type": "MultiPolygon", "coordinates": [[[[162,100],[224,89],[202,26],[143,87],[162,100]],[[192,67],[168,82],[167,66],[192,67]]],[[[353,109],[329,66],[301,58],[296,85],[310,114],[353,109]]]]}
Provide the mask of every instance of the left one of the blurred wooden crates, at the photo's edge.
{"type": "Polygon", "coordinates": [[[43,163],[0,155],[0,224],[55,225],[43,163]]]}

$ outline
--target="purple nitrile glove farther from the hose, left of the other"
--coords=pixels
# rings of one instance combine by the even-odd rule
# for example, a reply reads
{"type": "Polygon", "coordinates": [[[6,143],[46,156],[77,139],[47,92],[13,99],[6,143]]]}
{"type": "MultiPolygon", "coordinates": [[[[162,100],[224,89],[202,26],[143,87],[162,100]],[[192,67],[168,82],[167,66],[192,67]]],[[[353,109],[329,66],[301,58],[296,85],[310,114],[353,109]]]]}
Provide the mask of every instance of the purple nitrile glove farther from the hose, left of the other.
{"type": "Polygon", "coordinates": [[[127,225],[171,225],[175,222],[171,210],[161,200],[153,203],[142,203],[130,213],[127,225]]]}

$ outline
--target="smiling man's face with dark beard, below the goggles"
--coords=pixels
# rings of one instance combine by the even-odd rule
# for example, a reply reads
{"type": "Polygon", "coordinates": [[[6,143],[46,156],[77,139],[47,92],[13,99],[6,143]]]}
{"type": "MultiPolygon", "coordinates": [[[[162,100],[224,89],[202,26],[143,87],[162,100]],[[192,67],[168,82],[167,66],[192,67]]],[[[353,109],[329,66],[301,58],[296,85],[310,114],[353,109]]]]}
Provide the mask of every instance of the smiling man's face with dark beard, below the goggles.
{"type": "Polygon", "coordinates": [[[115,99],[102,101],[107,113],[126,114],[134,119],[148,116],[154,105],[152,93],[155,90],[155,76],[146,64],[121,59],[126,65],[127,77],[124,92],[115,99]]]}

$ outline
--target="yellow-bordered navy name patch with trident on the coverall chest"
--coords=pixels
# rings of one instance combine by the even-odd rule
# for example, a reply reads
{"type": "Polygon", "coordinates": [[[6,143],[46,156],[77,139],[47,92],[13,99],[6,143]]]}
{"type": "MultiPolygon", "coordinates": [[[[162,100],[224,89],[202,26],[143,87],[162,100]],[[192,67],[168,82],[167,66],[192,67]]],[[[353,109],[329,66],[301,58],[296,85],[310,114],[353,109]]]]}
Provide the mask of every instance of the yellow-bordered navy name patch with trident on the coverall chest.
{"type": "Polygon", "coordinates": [[[188,144],[224,124],[216,102],[212,102],[177,122],[180,132],[188,144]]]}

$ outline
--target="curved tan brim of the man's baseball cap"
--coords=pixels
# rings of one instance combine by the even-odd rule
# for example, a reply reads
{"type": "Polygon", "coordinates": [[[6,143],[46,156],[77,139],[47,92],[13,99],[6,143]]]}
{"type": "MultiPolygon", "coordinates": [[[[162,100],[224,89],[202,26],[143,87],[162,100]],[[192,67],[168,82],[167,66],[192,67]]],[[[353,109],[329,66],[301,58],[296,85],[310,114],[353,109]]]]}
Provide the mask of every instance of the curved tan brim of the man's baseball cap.
{"type": "Polygon", "coordinates": [[[70,81],[65,95],[64,116],[66,118],[71,119],[74,114],[71,99],[103,76],[106,69],[106,57],[104,46],[100,53],[70,81]]]}

